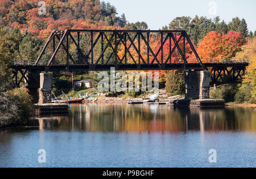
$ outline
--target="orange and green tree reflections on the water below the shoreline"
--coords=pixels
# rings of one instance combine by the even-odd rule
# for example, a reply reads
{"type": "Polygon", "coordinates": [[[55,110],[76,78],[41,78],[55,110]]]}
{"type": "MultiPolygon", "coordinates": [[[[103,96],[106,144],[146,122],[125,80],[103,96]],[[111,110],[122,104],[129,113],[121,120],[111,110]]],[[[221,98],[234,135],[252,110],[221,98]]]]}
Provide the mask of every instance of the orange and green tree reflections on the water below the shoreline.
{"type": "MultiPolygon", "coordinates": [[[[89,132],[256,131],[252,109],[173,109],[166,105],[73,105],[46,128],[89,132]],[[51,126],[52,125],[52,126],[51,126]]],[[[47,122],[49,124],[49,122],[47,122]]]]}

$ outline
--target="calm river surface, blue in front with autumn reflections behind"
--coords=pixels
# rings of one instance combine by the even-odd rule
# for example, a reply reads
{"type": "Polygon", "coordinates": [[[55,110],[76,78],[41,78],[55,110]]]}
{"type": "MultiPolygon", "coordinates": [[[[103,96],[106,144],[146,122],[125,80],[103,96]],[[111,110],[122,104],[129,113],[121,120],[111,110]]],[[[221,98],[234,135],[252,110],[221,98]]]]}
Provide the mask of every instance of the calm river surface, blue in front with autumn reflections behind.
{"type": "Polygon", "coordinates": [[[256,111],[72,105],[38,128],[0,131],[0,167],[256,167],[256,111]],[[46,163],[38,163],[38,150],[46,163]],[[217,163],[209,163],[210,149],[217,163]]]}

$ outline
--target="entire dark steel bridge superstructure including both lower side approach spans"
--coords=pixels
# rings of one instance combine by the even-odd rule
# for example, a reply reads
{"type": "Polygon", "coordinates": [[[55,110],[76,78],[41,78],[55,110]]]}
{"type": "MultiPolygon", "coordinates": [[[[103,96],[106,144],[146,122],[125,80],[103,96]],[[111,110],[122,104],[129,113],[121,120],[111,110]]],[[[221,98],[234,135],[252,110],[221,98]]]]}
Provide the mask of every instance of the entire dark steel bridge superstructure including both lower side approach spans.
{"type": "Polygon", "coordinates": [[[183,30],[63,30],[52,31],[36,61],[16,60],[11,68],[16,86],[23,79],[28,80],[28,73],[38,83],[33,76],[35,71],[87,72],[111,67],[115,70],[211,70],[212,83],[224,84],[240,82],[247,65],[247,61],[241,60],[201,60],[183,30]],[[154,39],[159,43],[152,43],[154,39]]]}

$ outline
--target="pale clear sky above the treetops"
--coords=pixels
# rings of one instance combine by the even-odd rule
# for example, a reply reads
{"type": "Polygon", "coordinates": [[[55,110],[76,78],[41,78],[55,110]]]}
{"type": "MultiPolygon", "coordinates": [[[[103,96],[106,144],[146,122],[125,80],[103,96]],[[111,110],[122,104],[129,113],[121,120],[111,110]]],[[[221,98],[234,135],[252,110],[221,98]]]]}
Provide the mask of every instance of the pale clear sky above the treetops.
{"type": "MultiPolygon", "coordinates": [[[[256,1],[255,0],[105,0],[117,8],[118,15],[125,13],[129,22],[144,21],[150,30],[158,30],[168,26],[176,16],[195,15],[213,18],[220,16],[221,20],[229,22],[238,16],[245,18],[249,31],[256,30],[256,1]],[[216,4],[216,14],[210,15],[209,5],[216,4]]],[[[212,10],[212,9],[211,9],[212,10]]]]}

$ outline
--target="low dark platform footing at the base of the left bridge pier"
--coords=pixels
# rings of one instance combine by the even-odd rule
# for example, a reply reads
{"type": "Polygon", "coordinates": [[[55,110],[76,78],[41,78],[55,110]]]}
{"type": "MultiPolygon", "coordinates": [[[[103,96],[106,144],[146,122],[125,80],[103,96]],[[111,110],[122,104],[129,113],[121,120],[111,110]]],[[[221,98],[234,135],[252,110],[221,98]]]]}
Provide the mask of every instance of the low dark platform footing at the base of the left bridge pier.
{"type": "Polygon", "coordinates": [[[35,104],[34,105],[34,115],[44,115],[44,114],[63,114],[68,113],[67,104],[58,104],[58,103],[46,103],[46,104],[35,104]]]}

